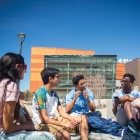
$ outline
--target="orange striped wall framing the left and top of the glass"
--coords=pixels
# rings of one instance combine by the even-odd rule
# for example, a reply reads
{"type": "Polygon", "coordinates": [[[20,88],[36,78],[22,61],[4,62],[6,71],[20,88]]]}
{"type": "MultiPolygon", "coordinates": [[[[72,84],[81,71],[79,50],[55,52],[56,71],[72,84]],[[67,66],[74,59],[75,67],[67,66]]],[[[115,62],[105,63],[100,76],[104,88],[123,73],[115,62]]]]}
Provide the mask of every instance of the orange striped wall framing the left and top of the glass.
{"type": "Polygon", "coordinates": [[[30,91],[35,92],[42,85],[40,71],[44,68],[45,55],[94,55],[94,54],[95,54],[94,51],[87,51],[87,50],[32,47],[30,91]]]}

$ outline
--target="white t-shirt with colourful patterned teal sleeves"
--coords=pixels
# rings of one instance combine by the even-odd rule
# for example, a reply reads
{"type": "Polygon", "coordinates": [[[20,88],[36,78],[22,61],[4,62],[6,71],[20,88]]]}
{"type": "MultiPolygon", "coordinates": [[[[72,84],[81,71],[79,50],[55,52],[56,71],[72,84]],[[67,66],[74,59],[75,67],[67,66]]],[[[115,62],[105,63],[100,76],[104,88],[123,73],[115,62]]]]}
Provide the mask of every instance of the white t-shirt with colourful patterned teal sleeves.
{"type": "Polygon", "coordinates": [[[36,125],[41,123],[39,111],[46,109],[49,118],[55,118],[57,107],[60,105],[59,98],[54,91],[48,92],[45,86],[41,87],[34,95],[32,102],[33,122],[36,125]]]}

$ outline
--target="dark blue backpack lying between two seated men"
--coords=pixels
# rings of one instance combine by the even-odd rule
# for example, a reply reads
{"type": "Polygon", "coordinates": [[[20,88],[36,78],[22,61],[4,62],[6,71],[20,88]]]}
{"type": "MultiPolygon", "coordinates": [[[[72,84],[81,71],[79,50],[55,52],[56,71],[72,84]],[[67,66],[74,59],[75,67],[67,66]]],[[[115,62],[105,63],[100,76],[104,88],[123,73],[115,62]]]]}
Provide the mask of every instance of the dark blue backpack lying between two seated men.
{"type": "Polygon", "coordinates": [[[102,118],[101,116],[89,116],[88,117],[89,131],[96,133],[112,134],[117,133],[123,129],[123,127],[117,122],[110,122],[109,120],[102,118]]]}

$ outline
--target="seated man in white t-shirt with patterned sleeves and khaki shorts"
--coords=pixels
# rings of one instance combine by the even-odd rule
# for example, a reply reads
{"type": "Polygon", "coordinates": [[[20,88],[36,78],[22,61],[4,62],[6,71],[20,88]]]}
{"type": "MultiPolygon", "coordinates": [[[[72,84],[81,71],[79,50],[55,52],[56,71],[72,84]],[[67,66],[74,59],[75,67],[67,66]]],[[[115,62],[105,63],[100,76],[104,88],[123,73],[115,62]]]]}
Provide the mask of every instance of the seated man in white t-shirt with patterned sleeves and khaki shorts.
{"type": "Polygon", "coordinates": [[[88,140],[87,117],[79,115],[73,118],[63,109],[59,97],[52,89],[56,87],[59,80],[59,70],[54,68],[45,68],[41,71],[41,78],[44,83],[33,97],[33,122],[37,130],[49,130],[57,139],[70,140],[69,132],[78,129],[81,140],[88,140]],[[58,111],[60,117],[55,117],[58,111]]]}

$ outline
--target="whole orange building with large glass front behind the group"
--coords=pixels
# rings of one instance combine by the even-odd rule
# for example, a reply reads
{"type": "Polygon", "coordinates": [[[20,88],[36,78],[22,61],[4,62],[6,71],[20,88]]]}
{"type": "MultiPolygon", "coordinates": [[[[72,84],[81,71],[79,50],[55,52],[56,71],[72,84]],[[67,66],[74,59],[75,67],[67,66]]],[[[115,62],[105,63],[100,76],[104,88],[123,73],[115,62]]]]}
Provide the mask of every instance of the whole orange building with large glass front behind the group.
{"type": "Polygon", "coordinates": [[[44,67],[54,67],[60,70],[61,82],[55,89],[60,98],[73,88],[72,77],[75,74],[85,76],[87,87],[97,94],[96,98],[111,98],[116,79],[124,74],[124,67],[116,65],[116,60],[116,55],[95,55],[94,51],[32,47],[30,91],[35,92],[43,85],[41,70],[44,67]]]}

